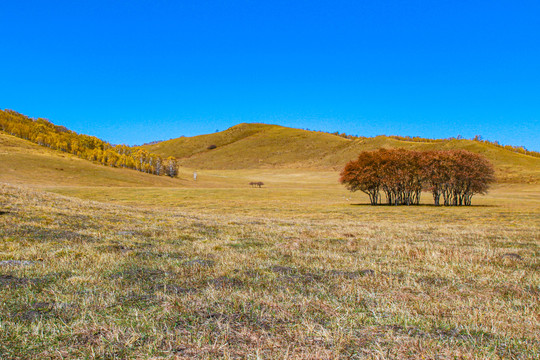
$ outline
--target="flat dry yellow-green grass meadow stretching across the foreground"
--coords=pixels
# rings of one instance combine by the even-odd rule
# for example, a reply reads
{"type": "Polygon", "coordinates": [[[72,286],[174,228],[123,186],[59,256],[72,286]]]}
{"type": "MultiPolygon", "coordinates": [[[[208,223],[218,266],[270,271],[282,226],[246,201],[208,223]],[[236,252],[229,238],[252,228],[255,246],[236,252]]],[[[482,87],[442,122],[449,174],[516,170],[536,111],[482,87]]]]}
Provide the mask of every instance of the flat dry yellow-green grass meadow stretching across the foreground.
{"type": "Polygon", "coordinates": [[[331,171],[191,174],[4,182],[0,358],[540,357],[539,185],[373,207],[331,171]]]}

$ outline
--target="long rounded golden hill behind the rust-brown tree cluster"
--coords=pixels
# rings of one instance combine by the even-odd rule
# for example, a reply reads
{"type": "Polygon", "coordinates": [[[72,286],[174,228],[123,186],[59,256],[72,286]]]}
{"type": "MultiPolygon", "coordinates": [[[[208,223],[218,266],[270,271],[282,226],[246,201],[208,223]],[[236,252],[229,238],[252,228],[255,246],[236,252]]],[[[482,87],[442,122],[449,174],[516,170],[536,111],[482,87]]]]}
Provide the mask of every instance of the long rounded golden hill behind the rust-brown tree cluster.
{"type": "Polygon", "coordinates": [[[379,148],[465,149],[484,154],[500,182],[540,182],[540,158],[474,140],[405,141],[387,136],[347,139],[278,125],[239,124],[225,131],[181,137],[143,148],[174,156],[181,166],[199,169],[299,168],[341,170],[359,152],[379,148]]]}

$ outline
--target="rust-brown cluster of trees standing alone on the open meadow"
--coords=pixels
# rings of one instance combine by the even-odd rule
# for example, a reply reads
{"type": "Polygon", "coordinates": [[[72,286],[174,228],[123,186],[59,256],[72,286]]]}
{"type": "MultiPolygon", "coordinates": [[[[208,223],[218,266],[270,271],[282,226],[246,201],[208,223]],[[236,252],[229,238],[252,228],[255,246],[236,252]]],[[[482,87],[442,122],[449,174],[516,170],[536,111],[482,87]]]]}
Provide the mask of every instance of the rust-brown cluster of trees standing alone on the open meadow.
{"type": "Polygon", "coordinates": [[[495,180],[491,163],[465,150],[412,151],[380,149],[364,151],[347,163],[340,182],[351,191],[362,191],[372,205],[420,203],[422,191],[430,191],[435,205],[471,205],[475,194],[484,194],[495,180]]]}

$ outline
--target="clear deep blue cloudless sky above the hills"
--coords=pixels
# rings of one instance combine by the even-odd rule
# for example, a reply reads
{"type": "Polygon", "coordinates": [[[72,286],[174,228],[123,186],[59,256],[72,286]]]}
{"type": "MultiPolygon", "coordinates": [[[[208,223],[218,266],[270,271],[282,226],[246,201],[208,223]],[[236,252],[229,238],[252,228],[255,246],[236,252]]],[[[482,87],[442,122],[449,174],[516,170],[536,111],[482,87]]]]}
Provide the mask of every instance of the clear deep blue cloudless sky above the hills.
{"type": "Polygon", "coordinates": [[[540,1],[2,1],[0,108],[113,143],[265,122],[540,150],[540,1]]]}

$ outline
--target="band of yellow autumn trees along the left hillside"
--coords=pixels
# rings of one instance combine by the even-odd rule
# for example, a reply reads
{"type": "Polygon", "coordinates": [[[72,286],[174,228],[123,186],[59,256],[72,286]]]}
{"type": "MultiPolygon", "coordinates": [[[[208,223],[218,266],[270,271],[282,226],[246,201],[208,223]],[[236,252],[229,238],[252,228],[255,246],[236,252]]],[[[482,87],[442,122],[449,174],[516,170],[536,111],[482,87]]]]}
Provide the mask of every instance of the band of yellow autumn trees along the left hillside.
{"type": "Polygon", "coordinates": [[[154,175],[178,176],[178,162],[174,157],[163,159],[144,149],[134,150],[126,145],[113,146],[97,137],[77,134],[46,119],[31,119],[12,110],[0,110],[0,130],[103,165],[154,175]]]}

